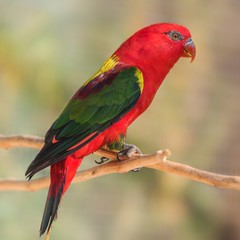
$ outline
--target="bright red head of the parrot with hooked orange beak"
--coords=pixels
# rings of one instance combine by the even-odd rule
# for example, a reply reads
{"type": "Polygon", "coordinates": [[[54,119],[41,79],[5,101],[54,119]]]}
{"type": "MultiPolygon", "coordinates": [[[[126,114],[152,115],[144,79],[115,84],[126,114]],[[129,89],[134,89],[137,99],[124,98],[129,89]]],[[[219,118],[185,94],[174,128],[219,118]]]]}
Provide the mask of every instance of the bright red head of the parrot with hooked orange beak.
{"type": "Polygon", "coordinates": [[[178,24],[150,25],[133,34],[116,51],[120,60],[139,66],[171,68],[180,57],[191,58],[196,48],[189,30],[178,24]]]}

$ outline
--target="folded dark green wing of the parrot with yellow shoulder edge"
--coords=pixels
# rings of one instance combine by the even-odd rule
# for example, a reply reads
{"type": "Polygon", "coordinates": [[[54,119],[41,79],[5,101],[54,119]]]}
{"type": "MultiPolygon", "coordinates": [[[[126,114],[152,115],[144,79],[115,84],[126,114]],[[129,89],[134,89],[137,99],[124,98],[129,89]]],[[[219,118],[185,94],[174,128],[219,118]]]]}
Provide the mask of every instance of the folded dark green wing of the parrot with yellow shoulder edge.
{"type": "Polygon", "coordinates": [[[143,75],[136,67],[116,65],[96,74],[53,123],[26,175],[31,178],[92,141],[135,106],[142,90],[143,75]]]}

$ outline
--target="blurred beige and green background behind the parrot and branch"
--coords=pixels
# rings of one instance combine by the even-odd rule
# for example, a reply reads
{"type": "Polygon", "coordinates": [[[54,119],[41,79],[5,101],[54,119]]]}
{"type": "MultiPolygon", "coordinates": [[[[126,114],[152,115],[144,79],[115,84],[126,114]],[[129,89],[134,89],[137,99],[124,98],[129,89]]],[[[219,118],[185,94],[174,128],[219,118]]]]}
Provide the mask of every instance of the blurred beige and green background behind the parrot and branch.
{"type": "MultiPolygon", "coordinates": [[[[191,30],[197,57],[177,63],[127,140],[144,153],[169,148],[172,161],[240,175],[239,11],[238,0],[0,0],[0,134],[44,136],[127,37],[176,22],[191,30]]],[[[0,149],[0,177],[24,179],[36,153],[0,149]]],[[[38,239],[46,194],[1,192],[0,239],[38,239]]],[[[51,237],[237,240],[239,216],[237,191],[142,169],[72,185],[51,237]]]]}

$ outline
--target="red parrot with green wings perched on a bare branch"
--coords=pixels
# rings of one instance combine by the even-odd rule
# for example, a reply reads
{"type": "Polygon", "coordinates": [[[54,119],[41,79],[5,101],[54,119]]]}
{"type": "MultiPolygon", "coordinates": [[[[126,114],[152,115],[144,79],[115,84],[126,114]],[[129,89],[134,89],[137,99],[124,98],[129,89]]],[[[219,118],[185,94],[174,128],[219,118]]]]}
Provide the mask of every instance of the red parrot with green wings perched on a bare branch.
{"type": "Polygon", "coordinates": [[[127,127],[148,108],[173,65],[180,57],[193,61],[195,54],[188,29],[153,24],[128,38],[75,93],[26,171],[31,179],[51,166],[40,235],[49,233],[82,159],[101,147],[121,151],[127,127]]]}

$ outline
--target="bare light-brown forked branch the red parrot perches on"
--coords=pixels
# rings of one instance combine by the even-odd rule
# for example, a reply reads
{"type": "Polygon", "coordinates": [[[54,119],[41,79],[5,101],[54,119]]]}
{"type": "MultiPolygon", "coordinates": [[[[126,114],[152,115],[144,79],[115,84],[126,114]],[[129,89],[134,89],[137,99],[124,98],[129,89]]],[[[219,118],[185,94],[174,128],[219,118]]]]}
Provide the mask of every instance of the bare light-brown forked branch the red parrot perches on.
{"type": "MultiPolygon", "coordinates": [[[[3,136],[0,135],[0,148],[30,147],[41,148],[43,138],[19,135],[3,136]]],[[[116,153],[106,149],[99,149],[95,154],[116,159],[116,153]]],[[[87,170],[79,171],[73,182],[82,182],[92,178],[100,177],[112,173],[126,173],[135,168],[147,167],[175,175],[183,176],[188,179],[205,183],[211,186],[240,190],[240,177],[221,175],[203,171],[188,165],[180,164],[167,160],[170,156],[168,150],[158,151],[150,155],[135,155],[125,161],[111,161],[87,170]]],[[[31,180],[0,179],[0,191],[37,191],[49,186],[49,177],[31,180]]]]}

